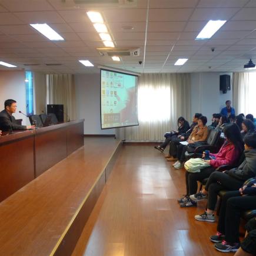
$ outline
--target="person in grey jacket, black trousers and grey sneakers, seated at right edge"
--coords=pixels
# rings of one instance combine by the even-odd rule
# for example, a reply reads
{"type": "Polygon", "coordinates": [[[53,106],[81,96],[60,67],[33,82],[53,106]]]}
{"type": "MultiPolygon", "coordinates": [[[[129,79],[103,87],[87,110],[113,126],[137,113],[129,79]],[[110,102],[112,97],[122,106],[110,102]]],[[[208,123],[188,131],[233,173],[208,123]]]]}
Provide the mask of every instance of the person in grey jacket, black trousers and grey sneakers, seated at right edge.
{"type": "Polygon", "coordinates": [[[212,172],[210,178],[197,194],[190,195],[193,201],[200,201],[207,197],[207,211],[201,215],[195,215],[195,220],[214,222],[214,208],[217,203],[218,192],[221,190],[237,190],[244,181],[256,176],[256,134],[248,135],[244,138],[245,160],[238,168],[224,172],[212,172]]]}

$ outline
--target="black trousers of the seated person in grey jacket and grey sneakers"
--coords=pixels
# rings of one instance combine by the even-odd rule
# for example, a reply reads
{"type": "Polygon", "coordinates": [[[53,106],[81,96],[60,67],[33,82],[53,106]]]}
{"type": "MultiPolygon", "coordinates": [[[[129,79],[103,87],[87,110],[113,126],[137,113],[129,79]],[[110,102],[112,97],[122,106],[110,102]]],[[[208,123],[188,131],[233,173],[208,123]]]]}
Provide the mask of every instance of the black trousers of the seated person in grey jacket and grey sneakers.
{"type": "Polygon", "coordinates": [[[208,191],[207,208],[214,211],[218,199],[218,192],[221,190],[238,190],[242,187],[244,181],[230,177],[225,172],[212,172],[205,189],[208,191]]]}

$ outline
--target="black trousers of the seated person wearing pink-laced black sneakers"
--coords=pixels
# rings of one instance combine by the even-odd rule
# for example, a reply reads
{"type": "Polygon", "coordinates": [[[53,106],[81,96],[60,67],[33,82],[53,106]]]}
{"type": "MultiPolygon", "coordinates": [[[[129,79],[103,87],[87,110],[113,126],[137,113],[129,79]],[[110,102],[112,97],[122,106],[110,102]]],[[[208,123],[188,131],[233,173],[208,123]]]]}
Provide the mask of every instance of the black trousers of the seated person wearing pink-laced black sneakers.
{"type": "Polygon", "coordinates": [[[225,234],[227,242],[239,242],[241,212],[256,209],[256,196],[241,196],[239,191],[229,191],[222,198],[217,230],[225,234]]]}

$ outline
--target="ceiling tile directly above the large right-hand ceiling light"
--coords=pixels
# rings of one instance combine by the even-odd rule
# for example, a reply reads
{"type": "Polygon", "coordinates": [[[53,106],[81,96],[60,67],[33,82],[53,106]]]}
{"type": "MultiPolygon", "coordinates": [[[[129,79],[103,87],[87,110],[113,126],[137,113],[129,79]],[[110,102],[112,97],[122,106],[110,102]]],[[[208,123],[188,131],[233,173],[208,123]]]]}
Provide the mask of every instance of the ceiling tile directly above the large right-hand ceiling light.
{"type": "Polygon", "coordinates": [[[191,21],[209,21],[210,19],[227,21],[238,10],[238,8],[198,8],[192,14],[191,21]]]}

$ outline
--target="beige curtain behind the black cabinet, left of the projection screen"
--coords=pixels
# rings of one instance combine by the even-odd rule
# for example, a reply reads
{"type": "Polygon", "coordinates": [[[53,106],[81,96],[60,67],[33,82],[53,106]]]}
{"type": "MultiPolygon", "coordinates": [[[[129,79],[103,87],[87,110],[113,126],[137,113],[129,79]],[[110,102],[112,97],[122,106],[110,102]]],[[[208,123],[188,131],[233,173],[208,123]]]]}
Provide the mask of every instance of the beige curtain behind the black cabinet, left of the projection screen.
{"type": "MultiPolygon", "coordinates": [[[[75,79],[72,74],[46,75],[47,104],[64,104],[64,112],[70,120],[77,118],[75,104],[75,79]]],[[[64,120],[67,121],[64,114],[64,120]]]]}

